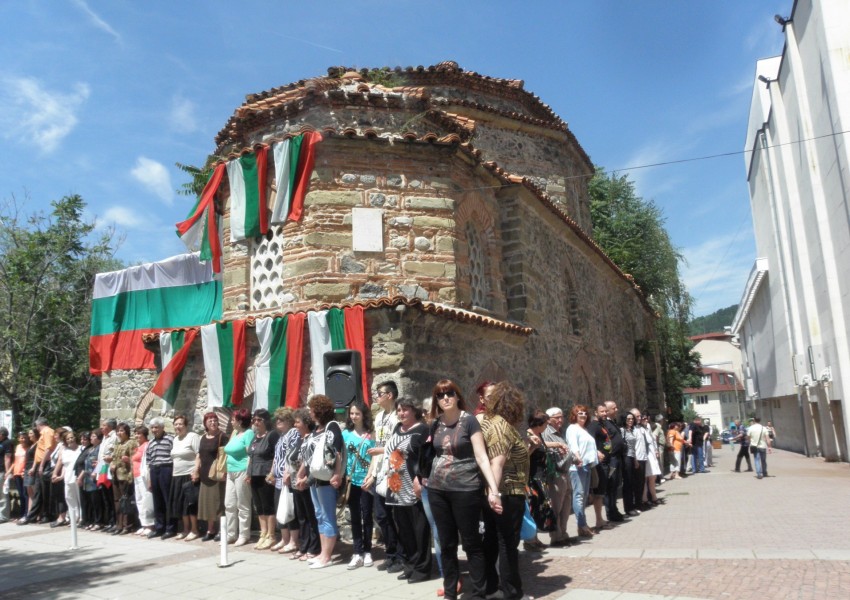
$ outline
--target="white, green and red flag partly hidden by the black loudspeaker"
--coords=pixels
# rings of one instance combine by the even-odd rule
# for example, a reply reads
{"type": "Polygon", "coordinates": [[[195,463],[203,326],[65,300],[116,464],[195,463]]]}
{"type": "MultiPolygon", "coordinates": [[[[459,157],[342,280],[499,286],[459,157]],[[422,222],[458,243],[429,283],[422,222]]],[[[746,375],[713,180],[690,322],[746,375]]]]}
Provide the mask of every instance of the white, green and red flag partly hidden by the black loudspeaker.
{"type": "Polygon", "coordinates": [[[310,366],[314,393],[325,393],[325,352],[357,350],[360,352],[363,400],[367,406],[369,405],[371,397],[369,396],[369,383],[366,379],[366,331],[363,324],[363,312],[362,306],[351,306],[344,309],[331,308],[310,313],[308,328],[310,331],[310,366]]]}

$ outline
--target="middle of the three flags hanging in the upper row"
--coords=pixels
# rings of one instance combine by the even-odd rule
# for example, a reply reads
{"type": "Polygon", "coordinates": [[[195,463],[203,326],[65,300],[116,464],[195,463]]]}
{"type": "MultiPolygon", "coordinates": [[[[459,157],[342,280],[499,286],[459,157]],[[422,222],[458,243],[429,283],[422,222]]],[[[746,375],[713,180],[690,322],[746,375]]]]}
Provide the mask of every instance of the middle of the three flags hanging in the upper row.
{"type": "Polygon", "coordinates": [[[227,163],[230,181],[230,240],[265,235],[269,230],[266,185],[268,146],[227,163]]]}

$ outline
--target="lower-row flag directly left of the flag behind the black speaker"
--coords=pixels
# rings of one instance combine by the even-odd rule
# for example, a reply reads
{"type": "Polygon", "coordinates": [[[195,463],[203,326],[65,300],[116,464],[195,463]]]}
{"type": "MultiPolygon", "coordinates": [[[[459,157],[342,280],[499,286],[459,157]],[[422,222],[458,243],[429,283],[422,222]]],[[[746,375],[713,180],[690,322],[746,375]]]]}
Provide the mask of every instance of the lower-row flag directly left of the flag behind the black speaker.
{"type": "Polygon", "coordinates": [[[274,412],[284,402],[286,406],[298,408],[301,404],[304,313],[257,319],[256,328],[260,352],[254,363],[253,409],[274,412]]]}

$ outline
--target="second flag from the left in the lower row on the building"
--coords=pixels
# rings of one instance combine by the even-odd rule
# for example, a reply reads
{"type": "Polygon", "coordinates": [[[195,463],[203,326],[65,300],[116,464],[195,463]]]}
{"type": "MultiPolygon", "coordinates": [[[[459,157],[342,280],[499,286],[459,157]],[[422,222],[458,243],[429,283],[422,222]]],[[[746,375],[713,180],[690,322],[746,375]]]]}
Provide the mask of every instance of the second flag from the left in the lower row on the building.
{"type": "Polygon", "coordinates": [[[245,393],[245,321],[213,323],[201,327],[204,368],[207,373],[207,406],[227,408],[242,404],[245,393]]]}

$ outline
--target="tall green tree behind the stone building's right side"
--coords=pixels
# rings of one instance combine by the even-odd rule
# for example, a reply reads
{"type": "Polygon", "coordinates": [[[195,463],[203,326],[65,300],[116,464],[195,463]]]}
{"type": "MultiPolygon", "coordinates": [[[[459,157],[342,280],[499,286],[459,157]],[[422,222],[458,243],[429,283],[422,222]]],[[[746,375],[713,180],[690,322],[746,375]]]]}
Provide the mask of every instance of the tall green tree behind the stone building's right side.
{"type": "Polygon", "coordinates": [[[589,191],[594,238],[659,315],[655,342],[664,396],[671,416],[679,416],[682,389],[700,385],[699,356],[688,340],[691,297],[679,273],[683,257],[664,229],[661,209],[638,196],[627,175],[597,168],[589,191]]]}

